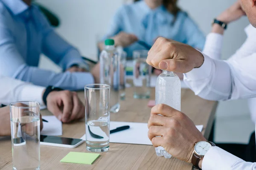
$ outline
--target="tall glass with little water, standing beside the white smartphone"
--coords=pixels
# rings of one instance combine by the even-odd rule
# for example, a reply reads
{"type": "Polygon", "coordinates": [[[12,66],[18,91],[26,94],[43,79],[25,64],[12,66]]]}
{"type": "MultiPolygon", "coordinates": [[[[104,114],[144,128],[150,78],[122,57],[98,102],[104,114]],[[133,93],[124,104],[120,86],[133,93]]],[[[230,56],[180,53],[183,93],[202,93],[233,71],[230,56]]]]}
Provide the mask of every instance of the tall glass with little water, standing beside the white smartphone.
{"type": "Polygon", "coordinates": [[[110,86],[87,85],[85,91],[86,149],[92,152],[109,150],[110,86]]]}

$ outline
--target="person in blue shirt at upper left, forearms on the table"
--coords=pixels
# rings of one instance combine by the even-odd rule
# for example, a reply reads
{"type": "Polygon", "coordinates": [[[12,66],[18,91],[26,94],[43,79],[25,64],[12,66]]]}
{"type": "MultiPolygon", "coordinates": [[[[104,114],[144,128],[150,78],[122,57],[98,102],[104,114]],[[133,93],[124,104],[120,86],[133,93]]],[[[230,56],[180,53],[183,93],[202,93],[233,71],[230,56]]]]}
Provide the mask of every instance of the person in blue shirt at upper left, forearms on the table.
{"type": "Polygon", "coordinates": [[[83,89],[94,82],[79,52],[55,33],[31,0],[0,0],[0,74],[40,86],[83,89]],[[38,68],[43,53],[64,73],[38,68]],[[78,72],[80,71],[80,72],[78,72]]]}

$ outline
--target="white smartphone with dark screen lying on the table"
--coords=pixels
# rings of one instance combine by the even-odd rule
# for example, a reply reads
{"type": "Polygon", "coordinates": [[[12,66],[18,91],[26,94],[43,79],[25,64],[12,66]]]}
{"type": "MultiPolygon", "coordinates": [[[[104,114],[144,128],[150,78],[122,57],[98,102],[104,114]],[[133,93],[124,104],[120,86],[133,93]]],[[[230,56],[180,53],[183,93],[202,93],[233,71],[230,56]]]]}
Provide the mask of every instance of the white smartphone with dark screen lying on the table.
{"type": "Polygon", "coordinates": [[[63,138],[58,136],[40,136],[40,144],[56,147],[69,147],[75,148],[82,144],[84,141],[82,139],[73,139],[73,138],[63,138]]]}

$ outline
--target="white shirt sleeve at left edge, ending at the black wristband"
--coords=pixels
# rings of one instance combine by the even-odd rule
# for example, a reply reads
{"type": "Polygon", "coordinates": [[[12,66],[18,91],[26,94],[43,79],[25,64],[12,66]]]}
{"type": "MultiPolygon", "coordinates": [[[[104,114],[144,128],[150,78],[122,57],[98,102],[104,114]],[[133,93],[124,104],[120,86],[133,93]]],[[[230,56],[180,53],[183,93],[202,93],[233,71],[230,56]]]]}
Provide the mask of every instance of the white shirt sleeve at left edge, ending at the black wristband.
{"type": "Polygon", "coordinates": [[[42,94],[44,90],[44,87],[0,75],[0,104],[9,105],[17,101],[36,101],[43,106],[42,94]]]}

